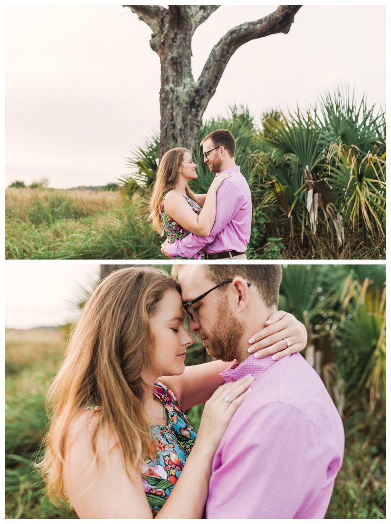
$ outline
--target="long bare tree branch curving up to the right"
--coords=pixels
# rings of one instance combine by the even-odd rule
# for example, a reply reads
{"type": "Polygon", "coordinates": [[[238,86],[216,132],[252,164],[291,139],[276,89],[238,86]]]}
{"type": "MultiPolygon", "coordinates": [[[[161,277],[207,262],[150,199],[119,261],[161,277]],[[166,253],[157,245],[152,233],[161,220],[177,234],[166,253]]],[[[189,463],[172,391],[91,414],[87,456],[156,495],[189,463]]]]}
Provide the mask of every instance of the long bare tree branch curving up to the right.
{"type": "Polygon", "coordinates": [[[234,27],[221,38],[212,49],[200,78],[195,84],[195,97],[199,101],[201,111],[205,110],[215,93],[218,82],[234,52],[250,40],[279,32],[284,34],[289,32],[294,16],[301,7],[301,5],[280,5],[274,13],[234,27]]]}

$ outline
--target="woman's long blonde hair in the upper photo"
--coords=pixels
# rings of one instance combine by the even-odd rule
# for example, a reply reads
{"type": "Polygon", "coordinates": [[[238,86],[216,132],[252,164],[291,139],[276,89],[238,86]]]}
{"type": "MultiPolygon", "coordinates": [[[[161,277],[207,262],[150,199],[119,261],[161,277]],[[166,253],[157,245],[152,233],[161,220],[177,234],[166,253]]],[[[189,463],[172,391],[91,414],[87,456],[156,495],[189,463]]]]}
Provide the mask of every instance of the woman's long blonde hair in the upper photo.
{"type": "MultiPolygon", "coordinates": [[[[183,156],[186,152],[190,154],[190,151],[183,147],[170,149],[163,155],[162,160],[159,162],[151,202],[149,202],[150,214],[148,220],[152,221],[153,230],[162,236],[164,235],[164,227],[162,219],[160,219],[160,206],[162,205],[163,195],[165,195],[167,191],[175,189],[179,178],[179,168],[182,165],[183,156]]],[[[198,202],[194,193],[187,186],[186,194],[198,202]]]]}

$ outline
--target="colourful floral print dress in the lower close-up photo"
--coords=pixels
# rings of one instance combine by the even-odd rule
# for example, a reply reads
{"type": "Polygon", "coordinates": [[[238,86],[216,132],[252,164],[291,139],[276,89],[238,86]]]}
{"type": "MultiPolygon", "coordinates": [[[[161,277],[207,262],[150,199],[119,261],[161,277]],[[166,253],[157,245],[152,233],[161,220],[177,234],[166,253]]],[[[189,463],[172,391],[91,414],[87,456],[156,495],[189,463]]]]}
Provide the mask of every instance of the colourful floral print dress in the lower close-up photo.
{"type": "Polygon", "coordinates": [[[170,389],[156,382],[155,395],[168,412],[168,425],[152,427],[158,455],[156,458],[146,457],[142,469],[145,494],[154,516],[175,486],[197,436],[170,389]]]}

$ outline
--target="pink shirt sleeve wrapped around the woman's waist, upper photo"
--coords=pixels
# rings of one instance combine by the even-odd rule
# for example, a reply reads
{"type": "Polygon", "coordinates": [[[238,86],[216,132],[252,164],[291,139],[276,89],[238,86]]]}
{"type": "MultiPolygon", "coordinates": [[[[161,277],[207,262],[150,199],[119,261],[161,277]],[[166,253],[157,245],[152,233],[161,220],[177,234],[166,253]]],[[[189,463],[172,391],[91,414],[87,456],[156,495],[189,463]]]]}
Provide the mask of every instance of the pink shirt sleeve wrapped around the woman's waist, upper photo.
{"type": "Polygon", "coordinates": [[[216,219],[208,236],[199,236],[190,233],[174,244],[170,244],[167,253],[170,257],[180,256],[190,258],[199,252],[206,244],[214,241],[216,235],[223,231],[224,227],[231,222],[240,206],[243,204],[244,196],[236,184],[226,179],[218,188],[216,194],[216,219]]]}

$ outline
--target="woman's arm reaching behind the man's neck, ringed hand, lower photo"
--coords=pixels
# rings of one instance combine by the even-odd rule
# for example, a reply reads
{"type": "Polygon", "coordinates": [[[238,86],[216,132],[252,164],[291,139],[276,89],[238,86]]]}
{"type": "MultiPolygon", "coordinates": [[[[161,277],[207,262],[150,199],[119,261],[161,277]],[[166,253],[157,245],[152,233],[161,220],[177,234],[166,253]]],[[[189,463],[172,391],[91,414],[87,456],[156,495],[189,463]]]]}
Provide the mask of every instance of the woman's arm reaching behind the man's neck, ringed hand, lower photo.
{"type": "MultiPolygon", "coordinates": [[[[254,355],[256,358],[273,355],[274,360],[279,360],[284,356],[304,350],[307,344],[307,331],[294,315],[285,311],[277,311],[270,315],[265,324],[266,327],[251,337],[250,340],[254,339],[254,342],[249,342],[249,350],[252,348],[249,355],[256,352],[254,355]],[[289,347],[284,338],[290,342],[289,347]],[[260,351],[261,348],[263,348],[262,351],[260,351]]],[[[161,380],[175,391],[180,405],[186,410],[208,400],[213,391],[224,384],[220,373],[231,364],[213,361],[187,366],[182,375],[162,377],[161,380]]]]}

